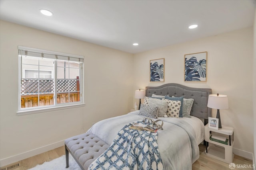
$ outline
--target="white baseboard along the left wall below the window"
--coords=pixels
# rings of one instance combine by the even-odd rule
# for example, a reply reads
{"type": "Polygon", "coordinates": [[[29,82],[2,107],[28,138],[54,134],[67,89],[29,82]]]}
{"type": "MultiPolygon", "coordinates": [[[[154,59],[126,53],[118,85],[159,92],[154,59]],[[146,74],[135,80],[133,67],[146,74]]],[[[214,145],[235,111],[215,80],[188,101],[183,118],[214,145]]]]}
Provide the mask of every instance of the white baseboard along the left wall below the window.
{"type": "Polygon", "coordinates": [[[48,150],[52,150],[52,149],[55,149],[55,148],[58,148],[58,147],[61,147],[61,146],[64,146],[64,140],[63,141],[58,141],[56,143],[52,143],[50,145],[46,145],[44,147],[29,150],[27,152],[17,154],[15,156],[10,156],[8,158],[1,159],[0,160],[0,167],[6,166],[8,164],[12,164],[14,162],[18,162],[20,160],[29,158],[31,156],[35,156],[35,155],[43,153],[43,152],[47,152],[48,150]]]}

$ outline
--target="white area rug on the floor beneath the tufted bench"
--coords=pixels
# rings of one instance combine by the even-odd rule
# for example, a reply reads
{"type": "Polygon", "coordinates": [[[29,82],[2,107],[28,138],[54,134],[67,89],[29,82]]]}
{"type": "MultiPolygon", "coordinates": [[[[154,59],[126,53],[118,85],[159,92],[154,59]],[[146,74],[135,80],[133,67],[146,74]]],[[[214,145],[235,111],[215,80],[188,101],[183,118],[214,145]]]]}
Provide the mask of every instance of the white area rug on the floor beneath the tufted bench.
{"type": "Polygon", "coordinates": [[[81,170],[74,158],[69,154],[69,167],[66,168],[66,156],[63,155],[50,162],[44,162],[29,170],[81,170]]]}

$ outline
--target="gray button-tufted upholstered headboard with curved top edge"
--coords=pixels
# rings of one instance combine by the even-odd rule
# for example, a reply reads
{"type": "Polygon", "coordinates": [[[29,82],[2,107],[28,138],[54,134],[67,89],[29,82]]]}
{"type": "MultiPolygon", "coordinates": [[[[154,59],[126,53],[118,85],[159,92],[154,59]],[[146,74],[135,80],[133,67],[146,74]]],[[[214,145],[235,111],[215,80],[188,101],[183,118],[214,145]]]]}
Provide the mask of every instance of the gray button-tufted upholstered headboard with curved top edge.
{"type": "Polygon", "coordinates": [[[187,99],[193,98],[194,103],[191,115],[207,119],[204,123],[208,123],[208,117],[212,117],[212,109],[207,107],[208,96],[212,94],[212,89],[210,88],[192,88],[181,84],[168,83],[157,87],[146,87],[146,96],[151,97],[152,94],[175,97],[184,96],[187,99]]]}

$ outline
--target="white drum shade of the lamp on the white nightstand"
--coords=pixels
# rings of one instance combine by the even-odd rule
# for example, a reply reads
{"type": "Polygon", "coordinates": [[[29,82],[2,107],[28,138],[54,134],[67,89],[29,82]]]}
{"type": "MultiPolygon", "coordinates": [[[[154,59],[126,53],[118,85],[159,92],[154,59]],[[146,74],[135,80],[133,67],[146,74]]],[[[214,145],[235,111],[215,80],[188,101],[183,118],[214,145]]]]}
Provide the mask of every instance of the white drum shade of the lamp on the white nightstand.
{"type": "Polygon", "coordinates": [[[228,109],[228,96],[222,94],[210,94],[207,107],[212,109],[228,109]]]}

